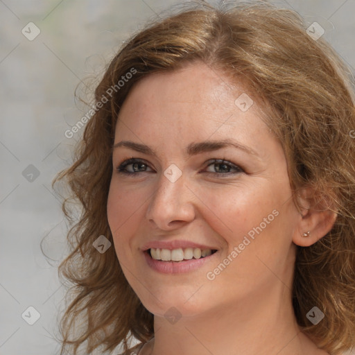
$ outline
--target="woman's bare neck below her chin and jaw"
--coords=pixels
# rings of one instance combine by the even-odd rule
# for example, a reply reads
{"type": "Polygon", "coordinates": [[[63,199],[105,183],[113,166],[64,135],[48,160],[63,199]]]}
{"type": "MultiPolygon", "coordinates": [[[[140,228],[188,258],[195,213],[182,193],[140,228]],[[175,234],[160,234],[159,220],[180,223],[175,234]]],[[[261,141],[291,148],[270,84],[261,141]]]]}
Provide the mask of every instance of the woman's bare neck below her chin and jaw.
{"type": "Polygon", "coordinates": [[[292,355],[304,354],[306,345],[315,348],[297,327],[291,291],[279,279],[268,293],[183,316],[175,324],[155,316],[154,328],[146,354],[292,355]]]}

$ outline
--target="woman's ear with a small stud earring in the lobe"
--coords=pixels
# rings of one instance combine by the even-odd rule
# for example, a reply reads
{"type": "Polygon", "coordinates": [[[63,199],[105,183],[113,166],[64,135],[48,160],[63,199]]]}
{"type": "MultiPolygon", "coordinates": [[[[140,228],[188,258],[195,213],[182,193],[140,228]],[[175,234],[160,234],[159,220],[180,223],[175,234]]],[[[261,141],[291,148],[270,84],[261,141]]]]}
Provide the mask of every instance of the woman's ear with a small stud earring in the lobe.
{"type": "Polygon", "coordinates": [[[319,241],[333,227],[338,214],[331,209],[331,204],[324,198],[317,201],[313,189],[307,187],[297,193],[302,209],[293,234],[293,243],[308,247],[319,241]],[[308,236],[302,234],[310,232],[308,236]]]}

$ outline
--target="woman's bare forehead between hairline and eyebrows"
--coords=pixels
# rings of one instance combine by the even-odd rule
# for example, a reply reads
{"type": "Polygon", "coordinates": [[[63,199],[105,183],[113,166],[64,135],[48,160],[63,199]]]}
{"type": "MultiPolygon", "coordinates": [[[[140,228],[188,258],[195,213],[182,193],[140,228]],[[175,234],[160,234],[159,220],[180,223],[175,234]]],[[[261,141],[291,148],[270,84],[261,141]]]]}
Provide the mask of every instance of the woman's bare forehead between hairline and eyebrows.
{"type": "Polygon", "coordinates": [[[123,139],[163,150],[207,139],[237,139],[261,154],[266,154],[266,145],[275,145],[243,85],[203,63],[141,79],[119,113],[115,143],[123,139]]]}

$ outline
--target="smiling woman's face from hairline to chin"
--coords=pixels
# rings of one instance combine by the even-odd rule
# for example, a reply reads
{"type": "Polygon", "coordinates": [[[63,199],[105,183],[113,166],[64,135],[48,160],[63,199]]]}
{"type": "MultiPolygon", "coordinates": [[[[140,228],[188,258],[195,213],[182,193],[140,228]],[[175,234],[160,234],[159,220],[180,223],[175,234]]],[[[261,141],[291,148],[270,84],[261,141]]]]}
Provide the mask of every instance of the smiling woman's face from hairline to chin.
{"type": "Polygon", "coordinates": [[[291,288],[301,216],[252,99],[195,62],[144,78],[123,104],[108,221],[125,277],[155,315],[252,307],[291,288]]]}

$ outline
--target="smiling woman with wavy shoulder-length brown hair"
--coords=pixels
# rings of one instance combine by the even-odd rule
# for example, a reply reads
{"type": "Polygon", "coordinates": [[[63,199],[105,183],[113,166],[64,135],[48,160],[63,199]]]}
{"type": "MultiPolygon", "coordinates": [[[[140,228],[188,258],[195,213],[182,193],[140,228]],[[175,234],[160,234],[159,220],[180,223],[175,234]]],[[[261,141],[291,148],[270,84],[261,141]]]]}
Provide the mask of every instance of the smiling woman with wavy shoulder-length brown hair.
{"type": "Polygon", "coordinates": [[[316,31],[202,4],[125,43],[56,179],[83,205],[62,354],[354,346],[354,91],[316,31]]]}

